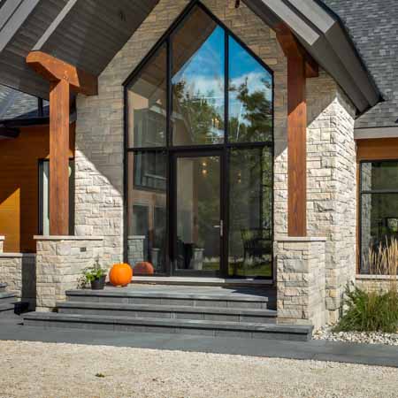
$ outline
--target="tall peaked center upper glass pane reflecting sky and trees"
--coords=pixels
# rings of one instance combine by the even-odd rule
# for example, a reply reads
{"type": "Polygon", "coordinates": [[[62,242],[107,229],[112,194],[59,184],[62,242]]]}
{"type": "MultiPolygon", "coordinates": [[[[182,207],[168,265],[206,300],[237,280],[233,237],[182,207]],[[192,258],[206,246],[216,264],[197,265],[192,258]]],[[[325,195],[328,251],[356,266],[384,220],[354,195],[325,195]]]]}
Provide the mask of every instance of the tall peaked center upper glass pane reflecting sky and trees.
{"type": "Polygon", "coordinates": [[[172,35],[172,143],[224,142],[225,32],[196,7],[172,35]]]}

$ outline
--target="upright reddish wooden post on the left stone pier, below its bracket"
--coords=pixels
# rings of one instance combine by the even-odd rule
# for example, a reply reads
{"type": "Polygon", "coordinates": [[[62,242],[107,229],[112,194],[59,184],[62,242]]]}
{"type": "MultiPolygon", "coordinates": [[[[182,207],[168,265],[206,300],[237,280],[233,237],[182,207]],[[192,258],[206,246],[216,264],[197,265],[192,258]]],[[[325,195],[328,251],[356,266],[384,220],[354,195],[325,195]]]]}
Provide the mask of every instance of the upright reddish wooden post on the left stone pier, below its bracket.
{"type": "Polygon", "coordinates": [[[69,96],[66,80],[50,83],[50,235],[69,235],[69,96]]]}

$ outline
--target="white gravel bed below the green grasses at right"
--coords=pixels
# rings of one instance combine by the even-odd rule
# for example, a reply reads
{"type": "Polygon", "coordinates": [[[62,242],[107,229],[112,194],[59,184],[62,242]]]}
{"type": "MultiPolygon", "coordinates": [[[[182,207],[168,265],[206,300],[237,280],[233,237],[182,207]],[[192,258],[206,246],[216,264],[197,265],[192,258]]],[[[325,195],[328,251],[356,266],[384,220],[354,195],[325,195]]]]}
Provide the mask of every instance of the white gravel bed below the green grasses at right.
{"type": "MultiPolygon", "coordinates": [[[[312,336],[314,340],[348,341],[366,344],[386,344],[398,346],[398,333],[379,332],[333,332],[333,326],[325,326],[312,336]]],[[[397,393],[398,396],[398,393],[397,393]]]]}

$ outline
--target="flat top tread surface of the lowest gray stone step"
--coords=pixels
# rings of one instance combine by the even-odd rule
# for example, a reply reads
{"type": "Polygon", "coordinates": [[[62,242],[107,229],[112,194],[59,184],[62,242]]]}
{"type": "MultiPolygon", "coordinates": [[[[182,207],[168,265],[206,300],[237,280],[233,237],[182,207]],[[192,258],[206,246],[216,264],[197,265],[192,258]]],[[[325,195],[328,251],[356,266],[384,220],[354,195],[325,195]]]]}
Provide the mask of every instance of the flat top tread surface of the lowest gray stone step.
{"type": "MultiPolygon", "coordinates": [[[[264,333],[289,333],[289,334],[309,334],[312,332],[312,326],[306,325],[276,325],[261,324],[253,322],[228,322],[228,321],[210,321],[194,319],[165,319],[165,318],[131,318],[131,317],[113,317],[101,315],[77,315],[77,314],[59,314],[55,312],[31,312],[24,316],[26,320],[57,321],[67,323],[87,323],[87,324],[108,324],[108,325],[146,325],[157,327],[180,327],[194,329],[216,329],[228,331],[243,332],[264,332],[264,333]]],[[[30,324],[32,325],[32,324],[30,324]]]]}

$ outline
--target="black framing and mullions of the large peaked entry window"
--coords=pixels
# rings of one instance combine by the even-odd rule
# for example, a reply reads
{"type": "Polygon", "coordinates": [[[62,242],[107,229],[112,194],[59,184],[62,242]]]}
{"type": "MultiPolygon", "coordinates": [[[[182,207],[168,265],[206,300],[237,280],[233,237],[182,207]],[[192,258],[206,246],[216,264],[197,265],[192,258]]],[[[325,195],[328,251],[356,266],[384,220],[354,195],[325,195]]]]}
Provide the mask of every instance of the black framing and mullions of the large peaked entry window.
{"type": "MultiPolygon", "coordinates": [[[[124,87],[124,258],[127,261],[127,232],[128,232],[128,187],[129,187],[129,176],[128,176],[128,157],[130,153],[142,153],[146,151],[153,151],[153,152],[164,152],[166,154],[166,231],[167,231],[167,243],[166,243],[166,253],[165,253],[165,272],[157,273],[155,276],[165,276],[165,275],[172,275],[172,261],[171,261],[171,253],[173,251],[172,248],[172,239],[171,233],[173,230],[172,220],[170,218],[170,209],[171,209],[171,201],[172,201],[172,187],[171,180],[172,180],[172,159],[174,155],[177,153],[182,152],[192,152],[196,153],[199,151],[219,151],[221,150],[224,154],[223,158],[223,165],[222,165],[222,172],[223,175],[226,176],[226,180],[224,186],[221,187],[221,195],[226,201],[226,206],[224,206],[224,214],[222,215],[223,223],[223,235],[226,237],[225,244],[223,245],[223,255],[227,258],[228,256],[228,232],[229,232],[229,154],[232,149],[256,149],[256,148],[264,148],[267,147],[270,149],[271,156],[272,156],[272,176],[271,176],[271,184],[272,184],[272,204],[271,204],[271,214],[272,219],[271,226],[272,226],[272,241],[274,235],[274,104],[275,104],[275,94],[274,94],[274,73],[272,69],[264,63],[264,61],[250,50],[249,47],[241,41],[241,39],[236,35],[233,34],[231,29],[226,27],[226,25],[219,20],[200,0],[193,0],[191,1],[184,11],[181,12],[180,16],[174,20],[171,27],[169,27],[165,34],[161,36],[161,38],[157,41],[157,43],[149,50],[148,54],[142,58],[142,61],[134,68],[134,71],[129,74],[126,80],[123,82],[124,87]],[[224,124],[225,124],[225,131],[224,131],[224,142],[218,144],[195,144],[195,145],[172,145],[172,34],[173,32],[180,26],[180,23],[186,19],[191,11],[194,10],[195,7],[200,7],[202,11],[204,11],[210,19],[212,19],[218,27],[223,28],[225,34],[225,71],[224,71],[224,79],[225,79],[225,115],[224,115],[224,124]],[[264,142],[229,142],[228,140],[228,128],[229,128],[229,37],[232,37],[234,41],[236,41],[244,50],[246,50],[249,56],[256,59],[256,62],[259,63],[264,69],[271,74],[272,79],[272,87],[271,87],[271,103],[272,103],[272,110],[271,110],[271,119],[272,119],[272,128],[271,128],[271,140],[264,141],[264,142]],[[165,137],[165,146],[155,146],[155,147],[129,147],[129,131],[128,131],[128,90],[134,84],[134,80],[136,80],[142,69],[147,65],[149,60],[157,54],[157,51],[163,46],[166,45],[166,137],[165,137]]],[[[134,178],[134,176],[133,176],[134,178]]],[[[174,181],[175,182],[175,181],[174,181]]],[[[133,181],[134,187],[134,181],[133,181]]],[[[134,187],[141,189],[141,187],[134,187]]],[[[147,189],[147,188],[145,188],[147,189]]],[[[150,188],[149,188],[150,190],[150,188]]],[[[261,277],[259,279],[274,279],[275,275],[273,272],[273,249],[272,249],[272,275],[271,277],[261,277]]],[[[226,261],[227,262],[227,261],[226,261]]],[[[226,270],[228,266],[226,264],[226,270]]],[[[226,274],[224,277],[228,277],[226,274]]],[[[252,279],[253,277],[248,277],[252,279]]]]}

